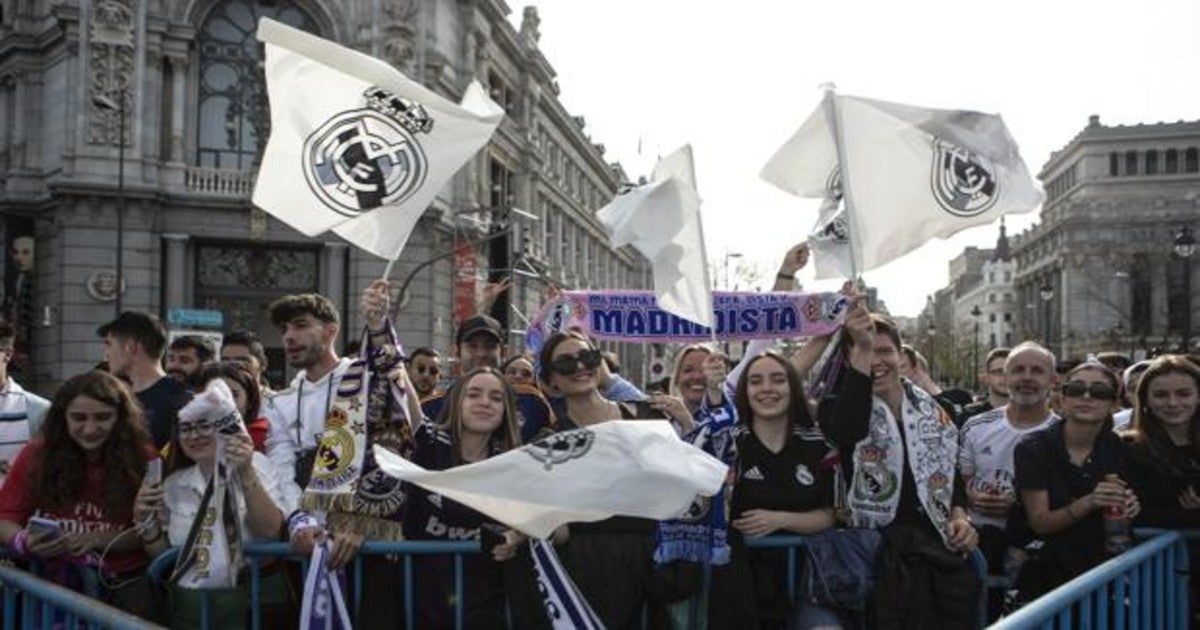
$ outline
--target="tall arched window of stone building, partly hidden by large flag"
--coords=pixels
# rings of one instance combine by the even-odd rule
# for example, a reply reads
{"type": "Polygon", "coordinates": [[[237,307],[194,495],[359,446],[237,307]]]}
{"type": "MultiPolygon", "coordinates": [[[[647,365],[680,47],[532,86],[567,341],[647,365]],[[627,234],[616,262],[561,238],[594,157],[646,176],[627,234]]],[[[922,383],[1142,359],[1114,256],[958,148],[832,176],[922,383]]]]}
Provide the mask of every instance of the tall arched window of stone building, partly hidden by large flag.
{"type": "Polygon", "coordinates": [[[199,49],[199,121],[196,154],[202,167],[245,170],[258,163],[271,112],[263,77],[258,18],[318,32],[290,0],[222,0],[204,18],[199,49]]]}

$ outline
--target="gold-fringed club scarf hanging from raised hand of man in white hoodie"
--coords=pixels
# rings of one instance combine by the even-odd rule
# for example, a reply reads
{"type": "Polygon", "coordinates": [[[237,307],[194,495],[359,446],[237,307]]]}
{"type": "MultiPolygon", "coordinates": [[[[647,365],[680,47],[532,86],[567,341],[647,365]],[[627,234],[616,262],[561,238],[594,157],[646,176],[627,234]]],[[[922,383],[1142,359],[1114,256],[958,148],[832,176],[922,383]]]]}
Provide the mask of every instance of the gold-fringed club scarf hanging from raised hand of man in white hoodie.
{"type": "Polygon", "coordinates": [[[364,331],[365,355],[342,376],[317,440],[304,508],[326,511],[330,527],[400,540],[404,492],[400,480],[379,469],[373,446],[410,457],[413,433],[403,352],[391,322],[385,328],[390,343],[371,348],[364,331]]]}

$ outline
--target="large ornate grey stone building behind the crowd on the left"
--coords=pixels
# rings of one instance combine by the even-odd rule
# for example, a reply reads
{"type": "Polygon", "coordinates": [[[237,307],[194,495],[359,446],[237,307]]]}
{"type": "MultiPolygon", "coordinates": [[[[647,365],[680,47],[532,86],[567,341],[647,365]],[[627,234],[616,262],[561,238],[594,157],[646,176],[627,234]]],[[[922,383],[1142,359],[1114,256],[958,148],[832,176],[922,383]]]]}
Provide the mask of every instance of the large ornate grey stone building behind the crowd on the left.
{"type": "MultiPolygon", "coordinates": [[[[358,294],[385,260],[332,234],[305,238],[250,202],[270,126],[260,17],[384,59],[455,101],[478,79],[508,112],[395,265],[391,277],[407,287],[397,319],[407,347],[449,349],[475,292],[503,275],[514,287],[493,314],[516,349],[548,283],[648,286],[648,263],[613,250],[593,216],[626,176],[558,101],[532,7],[518,28],[503,0],[4,0],[0,8],[4,307],[20,329],[20,378],[38,389],[101,359],[95,330],[118,300],[162,316],[221,311],[226,330],[263,336],[278,370],[266,306],[283,293],[320,292],[344,314],[343,341],[355,341],[358,294]]],[[[622,352],[640,379],[643,349],[622,352]]]]}

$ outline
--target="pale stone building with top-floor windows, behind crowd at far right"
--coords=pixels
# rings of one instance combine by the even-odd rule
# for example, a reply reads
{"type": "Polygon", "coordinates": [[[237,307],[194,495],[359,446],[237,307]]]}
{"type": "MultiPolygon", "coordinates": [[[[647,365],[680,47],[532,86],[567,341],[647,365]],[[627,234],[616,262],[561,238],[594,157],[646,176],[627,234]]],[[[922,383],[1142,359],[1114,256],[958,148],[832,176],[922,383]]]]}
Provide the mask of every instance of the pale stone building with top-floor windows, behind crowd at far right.
{"type": "Polygon", "coordinates": [[[1038,174],[1042,222],[1013,239],[1027,336],[1063,358],[1177,349],[1184,337],[1195,350],[1195,260],[1175,245],[1200,224],[1198,152],[1200,121],[1093,115],[1051,155],[1038,174]]]}

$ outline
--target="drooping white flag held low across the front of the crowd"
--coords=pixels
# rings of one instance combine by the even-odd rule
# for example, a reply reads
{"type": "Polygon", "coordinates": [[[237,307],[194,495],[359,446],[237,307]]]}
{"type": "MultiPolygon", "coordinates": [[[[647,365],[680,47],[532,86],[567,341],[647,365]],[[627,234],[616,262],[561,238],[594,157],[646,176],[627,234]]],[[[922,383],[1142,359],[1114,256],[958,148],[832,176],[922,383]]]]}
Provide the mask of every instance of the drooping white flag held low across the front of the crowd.
{"type": "Polygon", "coordinates": [[[662,420],[610,420],[563,431],[446,470],[426,470],[379,446],[374,454],[384,473],[534,538],[547,538],[564,523],[616,515],[679,516],[697,494],[715,494],[726,472],[662,420]]]}

